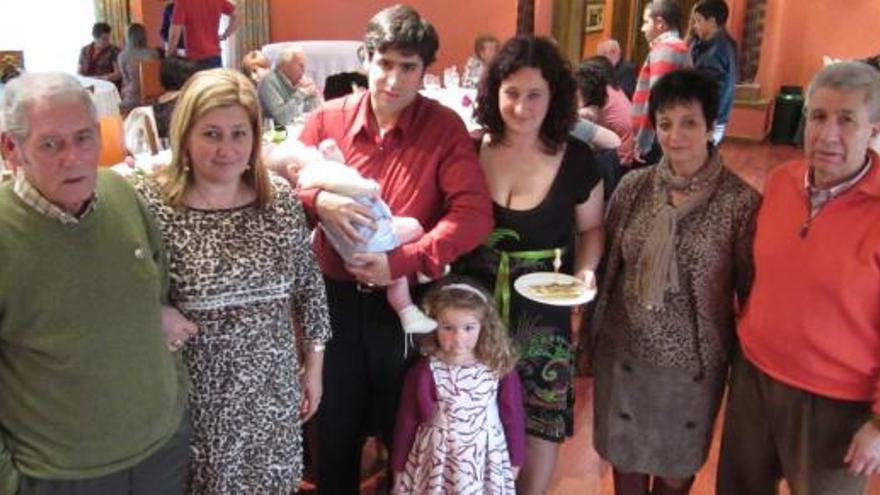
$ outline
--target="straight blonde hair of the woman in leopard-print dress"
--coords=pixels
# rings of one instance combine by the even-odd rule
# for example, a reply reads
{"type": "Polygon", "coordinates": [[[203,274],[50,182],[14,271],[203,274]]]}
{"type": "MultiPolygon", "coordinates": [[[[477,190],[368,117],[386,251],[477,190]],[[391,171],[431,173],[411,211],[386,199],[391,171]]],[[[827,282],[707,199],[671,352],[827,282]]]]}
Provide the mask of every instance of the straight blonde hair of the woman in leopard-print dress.
{"type": "Polygon", "coordinates": [[[254,140],[248,160],[250,166],[242,178],[254,188],[260,208],[266,208],[271,202],[272,184],[260,158],[263,116],[254,85],[240,72],[211,69],[195,73],[184,84],[171,117],[169,137],[173,158],[171,164],[160,172],[160,182],[162,192],[172,206],[180,206],[187,189],[193,185],[192,163],[187,149],[193,126],[210,110],[234,105],[247,112],[254,140]]]}

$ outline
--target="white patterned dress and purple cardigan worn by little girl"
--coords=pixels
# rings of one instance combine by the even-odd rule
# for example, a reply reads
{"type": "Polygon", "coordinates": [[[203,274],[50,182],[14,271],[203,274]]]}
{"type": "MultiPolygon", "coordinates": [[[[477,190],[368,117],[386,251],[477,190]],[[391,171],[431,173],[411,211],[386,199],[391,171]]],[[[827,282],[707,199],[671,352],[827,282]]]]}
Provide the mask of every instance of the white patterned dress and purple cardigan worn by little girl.
{"type": "Polygon", "coordinates": [[[513,495],[525,451],[515,371],[422,358],[407,373],[391,466],[398,495],[513,495]]]}

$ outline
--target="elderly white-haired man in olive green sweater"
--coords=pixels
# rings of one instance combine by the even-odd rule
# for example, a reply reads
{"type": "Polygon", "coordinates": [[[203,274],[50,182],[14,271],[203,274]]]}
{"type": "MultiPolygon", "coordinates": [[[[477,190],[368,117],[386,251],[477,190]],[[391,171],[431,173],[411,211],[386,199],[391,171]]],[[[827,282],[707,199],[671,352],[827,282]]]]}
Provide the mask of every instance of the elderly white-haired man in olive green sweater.
{"type": "Polygon", "coordinates": [[[162,239],[125,179],[97,171],[95,107],[73,76],[23,74],[3,117],[0,493],[182,494],[162,239]]]}

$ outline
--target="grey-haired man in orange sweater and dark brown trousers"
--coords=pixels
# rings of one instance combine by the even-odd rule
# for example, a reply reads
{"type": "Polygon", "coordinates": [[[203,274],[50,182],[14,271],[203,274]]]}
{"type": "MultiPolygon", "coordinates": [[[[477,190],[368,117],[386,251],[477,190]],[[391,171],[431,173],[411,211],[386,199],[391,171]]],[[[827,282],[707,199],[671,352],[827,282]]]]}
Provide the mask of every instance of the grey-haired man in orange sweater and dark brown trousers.
{"type": "Polygon", "coordinates": [[[880,473],[880,73],[829,65],[806,159],[767,181],[739,325],[719,495],[856,495],[880,473]]]}

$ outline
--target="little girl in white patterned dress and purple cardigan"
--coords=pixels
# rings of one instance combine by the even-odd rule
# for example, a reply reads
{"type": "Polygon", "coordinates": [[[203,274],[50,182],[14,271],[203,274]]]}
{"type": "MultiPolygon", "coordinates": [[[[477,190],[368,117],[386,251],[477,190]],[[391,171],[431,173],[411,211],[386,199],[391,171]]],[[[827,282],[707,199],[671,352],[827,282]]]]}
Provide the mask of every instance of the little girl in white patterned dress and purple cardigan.
{"type": "Polygon", "coordinates": [[[489,296],[446,282],[424,300],[437,320],[407,373],[391,467],[395,494],[513,494],[525,457],[516,355],[489,296]]]}

